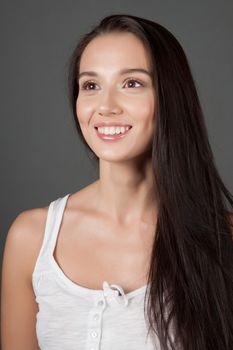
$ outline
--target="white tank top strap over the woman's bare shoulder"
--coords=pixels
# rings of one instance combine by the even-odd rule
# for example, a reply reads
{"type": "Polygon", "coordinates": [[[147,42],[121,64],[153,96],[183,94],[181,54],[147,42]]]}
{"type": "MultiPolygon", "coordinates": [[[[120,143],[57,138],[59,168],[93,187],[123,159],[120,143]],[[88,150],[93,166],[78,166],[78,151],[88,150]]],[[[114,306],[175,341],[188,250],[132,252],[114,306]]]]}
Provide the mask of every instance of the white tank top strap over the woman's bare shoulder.
{"type": "Polygon", "coordinates": [[[62,222],[63,213],[69,196],[70,193],[64,197],[57,198],[49,204],[44,237],[33,273],[40,271],[41,268],[43,270],[43,267],[45,265],[43,262],[46,262],[48,256],[53,254],[59,233],[59,228],[62,222]]]}

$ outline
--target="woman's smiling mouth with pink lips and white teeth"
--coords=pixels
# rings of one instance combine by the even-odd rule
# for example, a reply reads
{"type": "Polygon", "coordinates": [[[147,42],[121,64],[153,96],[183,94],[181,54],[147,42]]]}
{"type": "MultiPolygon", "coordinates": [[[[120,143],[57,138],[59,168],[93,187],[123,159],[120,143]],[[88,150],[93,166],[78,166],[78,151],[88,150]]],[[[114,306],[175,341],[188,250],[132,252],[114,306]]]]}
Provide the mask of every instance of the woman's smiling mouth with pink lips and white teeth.
{"type": "Polygon", "coordinates": [[[132,126],[126,127],[95,127],[97,136],[103,141],[117,141],[126,137],[132,126]]]}

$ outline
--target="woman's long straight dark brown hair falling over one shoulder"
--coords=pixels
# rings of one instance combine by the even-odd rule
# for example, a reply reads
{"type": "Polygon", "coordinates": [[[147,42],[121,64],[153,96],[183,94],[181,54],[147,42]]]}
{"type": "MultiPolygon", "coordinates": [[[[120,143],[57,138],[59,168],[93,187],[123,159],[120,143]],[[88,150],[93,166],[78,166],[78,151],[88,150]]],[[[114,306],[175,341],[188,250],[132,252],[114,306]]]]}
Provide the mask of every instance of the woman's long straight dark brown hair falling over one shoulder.
{"type": "Polygon", "coordinates": [[[81,55],[91,40],[112,32],[133,33],[144,44],[158,106],[151,154],[158,218],[148,271],[149,331],[157,334],[162,350],[233,349],[228,211],[233,197],[215,165],[188,60],[171,32],[151,20],[117,14],[102,19],[80,39],[69,62],[78,133],[89,148],[76,116],[81,55]]]}

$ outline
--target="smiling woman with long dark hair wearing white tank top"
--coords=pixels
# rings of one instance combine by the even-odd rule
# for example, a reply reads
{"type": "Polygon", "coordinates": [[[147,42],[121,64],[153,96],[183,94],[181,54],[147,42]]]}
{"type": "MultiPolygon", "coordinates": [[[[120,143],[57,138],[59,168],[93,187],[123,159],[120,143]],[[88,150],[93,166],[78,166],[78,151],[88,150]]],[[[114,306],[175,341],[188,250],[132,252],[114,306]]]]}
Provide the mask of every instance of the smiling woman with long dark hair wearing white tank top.
{"type": "Polygon", "coordinates": [[[69,73],[99,179],[11,225],[3,350],[232,349],[233,200],[183,49],[158,23],[112,15],[69,73]]]}

